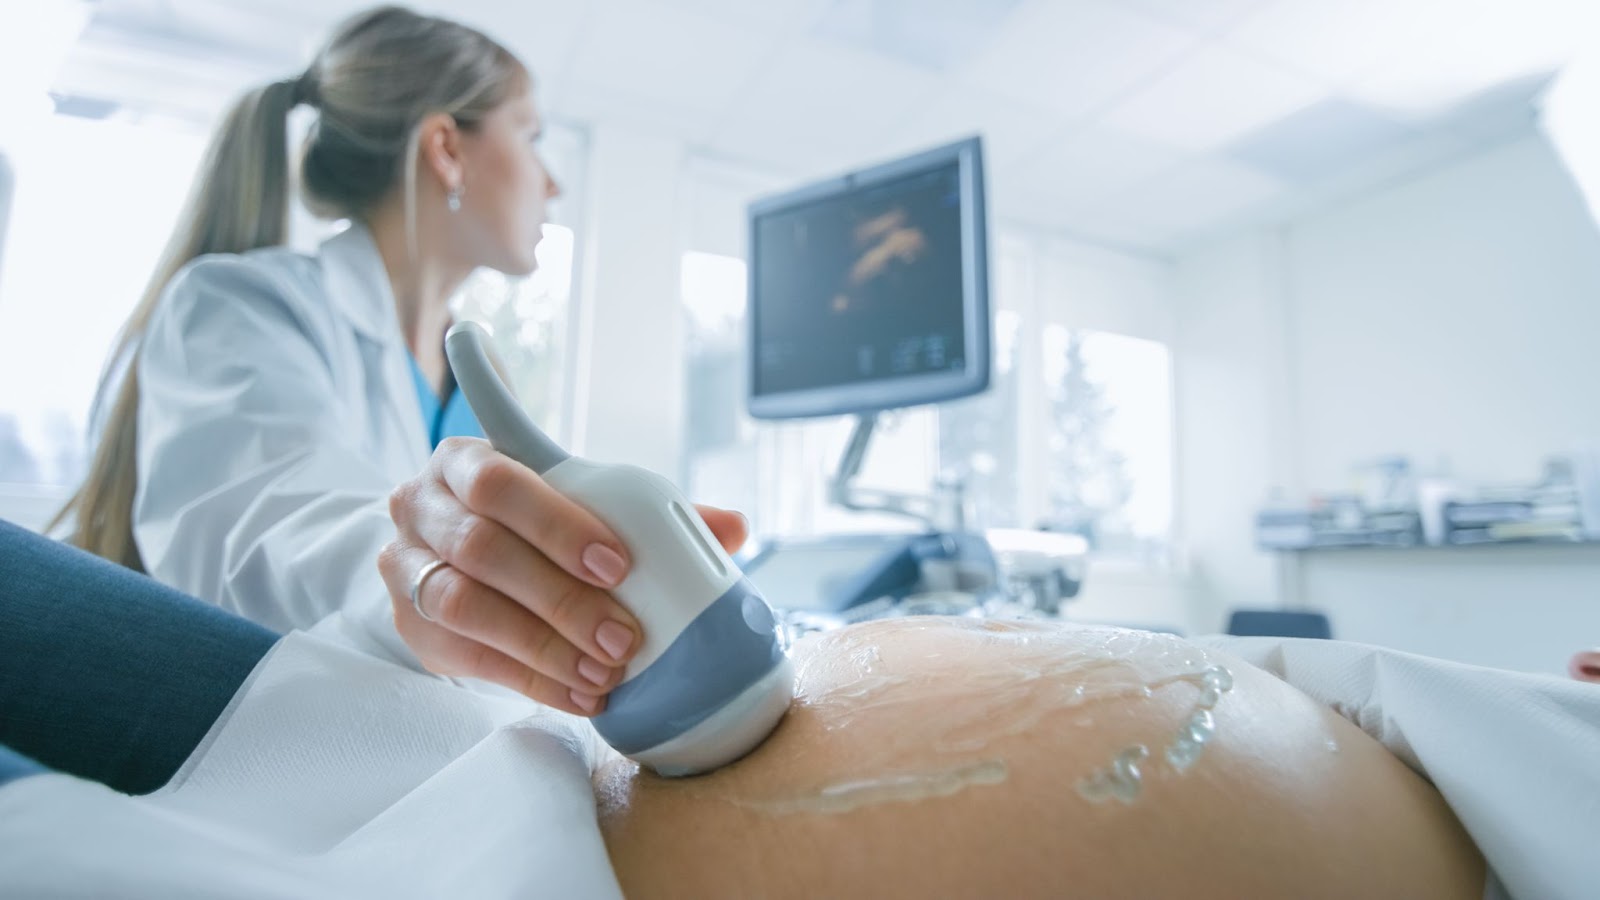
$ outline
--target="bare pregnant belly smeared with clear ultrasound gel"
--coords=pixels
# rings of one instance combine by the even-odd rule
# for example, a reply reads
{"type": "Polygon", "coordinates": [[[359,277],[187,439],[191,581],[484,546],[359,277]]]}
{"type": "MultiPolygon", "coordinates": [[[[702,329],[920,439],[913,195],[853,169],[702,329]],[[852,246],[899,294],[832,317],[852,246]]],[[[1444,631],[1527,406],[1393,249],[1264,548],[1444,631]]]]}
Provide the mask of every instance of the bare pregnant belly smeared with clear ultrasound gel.
{"type": "Polygon", "coordinates": [[[1170,636],[896,620],[797,647],[712,775],[613,761],[629,897],[1480,897],[1437,791],[1272,676],[1170,636]]]}

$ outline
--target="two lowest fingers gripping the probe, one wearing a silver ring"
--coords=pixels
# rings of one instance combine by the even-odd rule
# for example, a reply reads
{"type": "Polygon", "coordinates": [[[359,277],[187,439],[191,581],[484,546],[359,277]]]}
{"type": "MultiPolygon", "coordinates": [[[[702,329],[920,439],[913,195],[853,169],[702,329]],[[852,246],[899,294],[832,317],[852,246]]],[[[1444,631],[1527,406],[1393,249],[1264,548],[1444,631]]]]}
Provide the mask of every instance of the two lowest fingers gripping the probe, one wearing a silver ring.
{"type": "Polygon", "coordinates": [[[603,708],[602,695],[622,669],[602,666],[549,623],[504,594],[450,565],[430,573],[411,607],[411,578],[435,557],[427,548],[389,544],[379,570],[389,586],[395,628],[429,671],[493,681],[541,703],[578,714],[603,708]]]}

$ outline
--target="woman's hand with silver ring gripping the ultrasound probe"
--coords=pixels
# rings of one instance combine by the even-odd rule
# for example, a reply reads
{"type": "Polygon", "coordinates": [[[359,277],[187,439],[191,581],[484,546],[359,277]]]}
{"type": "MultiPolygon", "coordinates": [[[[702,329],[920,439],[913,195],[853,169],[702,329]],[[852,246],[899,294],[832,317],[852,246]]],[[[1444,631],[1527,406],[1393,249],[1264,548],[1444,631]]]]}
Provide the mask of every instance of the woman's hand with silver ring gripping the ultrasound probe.
{"type": "MultiPolygon", "coordinates": [[[[730,552],[738,512],[699,506],[730,552]]],[[[429,671],[491,681],[592,716],[640,628],[611,594],[627,548],[592,512],[486,440],[453,437],[389,496],[398,538],[378,559],[400,637],[429,671]],[[435,565],[442,562],[442,565],[435,565]],[[413,605],[413,586],[421,575],[413,605]]]]}

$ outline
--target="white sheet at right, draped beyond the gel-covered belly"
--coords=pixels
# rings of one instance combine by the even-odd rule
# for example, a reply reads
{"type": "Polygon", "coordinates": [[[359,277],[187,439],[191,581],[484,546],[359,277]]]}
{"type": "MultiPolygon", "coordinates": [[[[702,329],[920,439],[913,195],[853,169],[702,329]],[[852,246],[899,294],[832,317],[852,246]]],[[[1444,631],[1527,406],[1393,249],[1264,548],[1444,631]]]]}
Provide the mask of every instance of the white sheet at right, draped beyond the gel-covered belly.
{"type": "Polygon", "coordinates": [[[1600,685],[1344,641],[1197,642],[1277,674],[1429,778],[1493,868],[1486,897],[1600,895],[1600,685]]]}

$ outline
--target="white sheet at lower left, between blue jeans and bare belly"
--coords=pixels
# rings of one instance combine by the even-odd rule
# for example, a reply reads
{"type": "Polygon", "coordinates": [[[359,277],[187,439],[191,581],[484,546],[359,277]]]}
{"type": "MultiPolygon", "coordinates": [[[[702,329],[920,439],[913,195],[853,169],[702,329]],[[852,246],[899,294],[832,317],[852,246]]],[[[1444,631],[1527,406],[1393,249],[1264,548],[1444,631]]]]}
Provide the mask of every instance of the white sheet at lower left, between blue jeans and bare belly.
{"type": "Polygon", "coordinates": [[[293,633],[162,791],[0,790],[0,892],[621,898],[605,753],[582,719],[293,633]]]}

